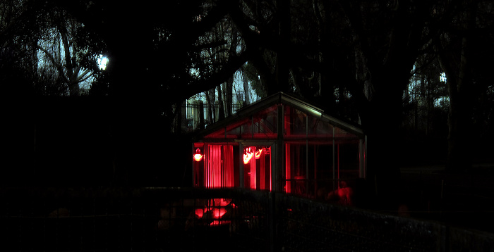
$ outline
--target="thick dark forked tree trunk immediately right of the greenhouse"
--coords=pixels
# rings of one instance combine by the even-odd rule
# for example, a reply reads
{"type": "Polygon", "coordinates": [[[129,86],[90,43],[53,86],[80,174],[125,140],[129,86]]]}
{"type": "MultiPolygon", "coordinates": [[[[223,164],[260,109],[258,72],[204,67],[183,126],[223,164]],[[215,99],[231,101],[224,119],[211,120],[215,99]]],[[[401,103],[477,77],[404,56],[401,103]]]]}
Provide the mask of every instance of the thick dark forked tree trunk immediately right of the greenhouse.
{"type": "MultiPolygon", "coordinates": [[[[398,3],[398,1],[396,2],[398,3]]],[[[382,47],[370,43],[374,37],[364,27],[369,25],[362,20],[361,12],[348,1],[339,1],[345,8],[356,39],[356,82],[355,99],[359,99],[361,122],[368,135],[368,179],[375,183],[378,194],[387,203],[396,199],[399,187],[399,165],[402,160],[402,97],[409,84],[410,71],[416,61],[417,51],[423,44],[422,23],[412,23],[410,3],[399,1],[399,5],[389,9],[392,24],[389,36],[378,39],[386,53],[376,53],[382,47]],[[359,93],[359,94],[357,94],[359,93]]],[[[387,8],[381,6],[382,8],[387,8]]],[[[366,14],[366,13],[363,13],[366,14]]],[[[406,162],[406,160],[404,160],[406,162]]],[[[388,205],[392,206],[392,205],[388,205]]]]}

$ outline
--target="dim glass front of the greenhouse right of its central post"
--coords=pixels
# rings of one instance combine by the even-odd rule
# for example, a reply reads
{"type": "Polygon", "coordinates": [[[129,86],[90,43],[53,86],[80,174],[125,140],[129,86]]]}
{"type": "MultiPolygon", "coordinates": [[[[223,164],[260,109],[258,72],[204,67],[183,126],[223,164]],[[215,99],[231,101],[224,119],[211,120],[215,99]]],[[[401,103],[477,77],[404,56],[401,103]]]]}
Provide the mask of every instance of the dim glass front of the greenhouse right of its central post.
{"type": "Polygon", "coordinates": [[[284,191],[325,199],[359,178],[361,139],[321,118],[284,107],[284,191]]]}

